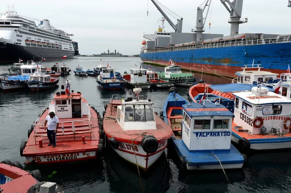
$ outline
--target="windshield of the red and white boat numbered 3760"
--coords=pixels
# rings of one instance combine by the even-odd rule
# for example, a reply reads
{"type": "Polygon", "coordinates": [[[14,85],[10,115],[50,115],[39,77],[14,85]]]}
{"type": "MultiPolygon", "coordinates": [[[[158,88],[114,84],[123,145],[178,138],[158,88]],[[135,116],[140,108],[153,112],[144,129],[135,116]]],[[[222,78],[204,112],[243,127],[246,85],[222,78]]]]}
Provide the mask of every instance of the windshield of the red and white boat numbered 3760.
{"type": "Polygon", "coordinates": [[[124,122],[129,121],[154,121],[153,107],[148,105],[126,105],[124,122]]]}

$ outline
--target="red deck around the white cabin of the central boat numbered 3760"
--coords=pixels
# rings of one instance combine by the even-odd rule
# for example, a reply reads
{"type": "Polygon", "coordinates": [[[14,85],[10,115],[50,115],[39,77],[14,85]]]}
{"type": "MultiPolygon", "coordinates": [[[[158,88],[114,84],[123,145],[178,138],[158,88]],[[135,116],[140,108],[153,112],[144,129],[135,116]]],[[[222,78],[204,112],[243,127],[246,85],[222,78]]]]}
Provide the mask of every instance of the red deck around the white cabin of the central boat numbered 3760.
{"type": "Polygon", "coordinates": [[[109,113],[111,111],[111,106],[114,106],[117,103],[121,104],[121,100],[113,100],[113,104],[107,106],[106,113],[104,115],[103,128],[107,136],[114,137],[117,141],[120,142],[132,144],[133,141],[133,144],[139,145],[141,144],[141,140],[145,135],[155,136],[158,143],[166,141],[173,135],[172,129],[156,114],[154,115],[157,123],[157,129],[146,130],[146,132],[143,130],[123,131],[119,124],[115,121],[117,108],[113,107],[112,113],[109,113]]]}

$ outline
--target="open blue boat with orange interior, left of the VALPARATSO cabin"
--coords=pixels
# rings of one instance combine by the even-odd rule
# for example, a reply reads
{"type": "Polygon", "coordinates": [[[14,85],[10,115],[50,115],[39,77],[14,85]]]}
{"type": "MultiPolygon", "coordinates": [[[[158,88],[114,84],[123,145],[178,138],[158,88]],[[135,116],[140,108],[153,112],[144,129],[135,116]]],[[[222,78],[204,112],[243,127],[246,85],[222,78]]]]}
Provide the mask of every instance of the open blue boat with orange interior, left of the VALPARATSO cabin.
{"type": "Polygon", "coordinates": [[[173,129],[174,134],[177,134],[179,131],[181,131],[183,120],[182,105],[187,103],[188,101],[186,101],[182,96],[178,95],[177,88],[170,88],[169,95],[165,100],[162,112],[160,112],[160,116],[163,121],[173,129]]]}

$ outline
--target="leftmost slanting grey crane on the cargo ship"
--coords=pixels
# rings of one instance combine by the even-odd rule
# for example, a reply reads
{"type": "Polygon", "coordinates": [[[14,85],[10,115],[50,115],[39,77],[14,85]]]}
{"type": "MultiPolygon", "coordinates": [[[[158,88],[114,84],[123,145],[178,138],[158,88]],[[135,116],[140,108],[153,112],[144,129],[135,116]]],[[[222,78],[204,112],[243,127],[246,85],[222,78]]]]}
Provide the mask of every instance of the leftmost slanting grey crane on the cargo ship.
{"type": "Polygon", "coordinates": [[[154,5],[157,7],[157,9],[160,11],[162,16],[167,20],[167,22],[170,24],[170,26],[175,30],[175,32],[182,32],[182,24],[183,24],[183,18],[172,12],[170,9],[165,7],[162,3],[160,3],[157,0],[151,0],[154,5]],[[173,16],[177,19],[177,25],[175,25],[171,19],[165,14],[167,12],[170,16],[173,16]]]}

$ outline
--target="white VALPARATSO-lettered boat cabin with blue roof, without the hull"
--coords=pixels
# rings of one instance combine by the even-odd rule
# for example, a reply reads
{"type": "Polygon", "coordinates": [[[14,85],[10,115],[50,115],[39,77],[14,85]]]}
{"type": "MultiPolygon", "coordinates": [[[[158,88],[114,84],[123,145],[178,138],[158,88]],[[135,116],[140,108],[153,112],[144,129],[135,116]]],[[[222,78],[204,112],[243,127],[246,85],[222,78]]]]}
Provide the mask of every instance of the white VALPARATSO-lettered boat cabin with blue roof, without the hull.
{"type": "Polygon", "coordinates": [[[214,103],[182,105],[182,141],[188,150],[230,149],[233,113],[214,103]]]}

